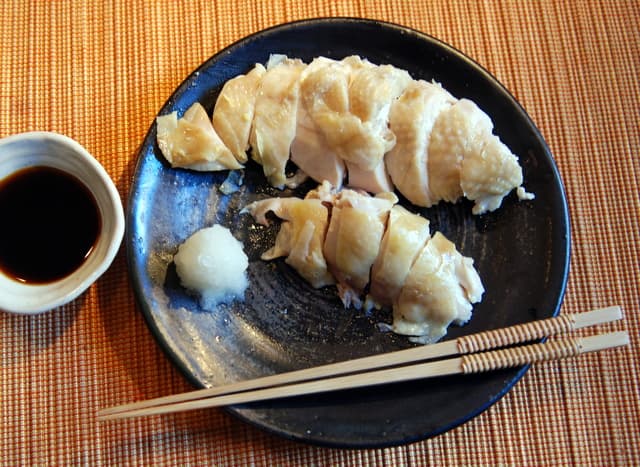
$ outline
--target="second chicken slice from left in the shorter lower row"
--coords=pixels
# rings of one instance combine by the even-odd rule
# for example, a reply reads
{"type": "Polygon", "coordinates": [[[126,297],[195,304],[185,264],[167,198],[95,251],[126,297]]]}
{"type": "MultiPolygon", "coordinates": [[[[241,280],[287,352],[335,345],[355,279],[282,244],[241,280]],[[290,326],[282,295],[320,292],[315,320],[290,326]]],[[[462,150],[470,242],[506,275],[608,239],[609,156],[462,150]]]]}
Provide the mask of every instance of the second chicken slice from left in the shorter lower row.
{"type": "Polygon", "coordinates": [[[323,251],[347,308],[362,307],[362,295],[380,251],[387,217],[397,201],[393,193],[372,197],[343,190],[334,196],[323,251]]]}

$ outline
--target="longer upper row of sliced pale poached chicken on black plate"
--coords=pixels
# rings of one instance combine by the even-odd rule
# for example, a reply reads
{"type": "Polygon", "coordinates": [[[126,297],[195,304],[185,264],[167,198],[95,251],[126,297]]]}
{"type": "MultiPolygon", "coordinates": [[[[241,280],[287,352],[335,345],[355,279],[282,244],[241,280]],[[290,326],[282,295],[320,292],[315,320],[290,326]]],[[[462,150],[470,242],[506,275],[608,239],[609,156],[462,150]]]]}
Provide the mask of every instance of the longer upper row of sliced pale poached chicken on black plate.
{"type": "Polygon", "coordinates": [[[215,163],[203,164],[202,151],[190,158],[193,145],[179,147],[180,139],[160,144],[158,131],[174,167],[232,169],[229,154],[239,166],[250,148],[280,189],[296,183],[286,177],[291,159],[318,183],[346,181],[374,194],[395,188],[423,207],[465,196],[475,201],[473,213],[483,214],[514,189],[519,199],[534,197],[522,187],[518,158],[474,102],[358,56],[318,57],[307,65],[272,55],[266,69],[256,64],[225,83],[212,121],[215,163]]]}

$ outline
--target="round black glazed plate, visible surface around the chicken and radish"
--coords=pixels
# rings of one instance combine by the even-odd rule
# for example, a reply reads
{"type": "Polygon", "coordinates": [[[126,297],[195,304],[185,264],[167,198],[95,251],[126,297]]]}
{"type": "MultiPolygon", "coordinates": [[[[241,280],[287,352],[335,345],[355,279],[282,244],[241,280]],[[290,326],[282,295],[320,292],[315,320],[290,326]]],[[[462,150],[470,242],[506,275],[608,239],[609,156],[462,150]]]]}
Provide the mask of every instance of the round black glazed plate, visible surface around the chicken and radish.
{"type": "MultiPolygon", "coordinates": [[[[569,220],[562,183],[543,138],[522,107],[487,71],[438,40],[401,26],[360,19],[309,20],[253,34],[195,70],[159,114],[182,114],[195,101],[210,113],[222,85],[265,63],[272,53],[310,61],[359,54],[391,63],[414,78],[434,79],[458,98],[475,100],[495,132],[520,157],[531,202],[509,195],[495,213],[473,216],[471,203],[409,209],[431,220],[475,259],[486,294],[464,327],[447,338],[557,314],[569,267],[569,220]]],[[[142,143],[127,212],[133,287],[153,335],[196,387],[406,348],[381,332],[388,311],[344,310],[334,288],[313,290],[284,262],[264,262],[278,226],[264,228],[239,211],[268,196],[302,196],[313,185],[279,192],[248,164],[239,191],[219,191],[227,172],[168,167],[155,123],[142,143]],[[214,223],[244,243],[251,286],[243,303],[200,308],[180,286],[172,263],[178,245],[214,223]]],[[[435,436],[500,399],[526,367],[228,407],[242,420],[281,436],[339,447],[383,447],[435,436]]]]}

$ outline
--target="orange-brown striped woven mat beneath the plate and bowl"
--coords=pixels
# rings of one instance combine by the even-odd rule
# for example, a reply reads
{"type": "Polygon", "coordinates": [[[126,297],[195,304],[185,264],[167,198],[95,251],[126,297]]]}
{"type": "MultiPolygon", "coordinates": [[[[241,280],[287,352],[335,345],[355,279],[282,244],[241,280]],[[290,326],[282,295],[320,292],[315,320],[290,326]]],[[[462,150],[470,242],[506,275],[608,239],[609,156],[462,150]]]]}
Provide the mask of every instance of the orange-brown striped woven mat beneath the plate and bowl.
{"type": "Polygon", "coordinates": [[[126,202],[137,149],[192,70],[246,35],[319,16],[435,36],[511,91],[568,196],[561,312],[620,305],[625,320],[604,329],[627,330],[631,346],[536,365],[468,423],[386,449],[308,446],[218,409],[99,423],[99,408],[191,389],[145,325],[121,248],[76,301],[38,316],[0,313],[0,464],[639,465],[637,1],[1,2],[0,137],[76,139],[126,202]]]}

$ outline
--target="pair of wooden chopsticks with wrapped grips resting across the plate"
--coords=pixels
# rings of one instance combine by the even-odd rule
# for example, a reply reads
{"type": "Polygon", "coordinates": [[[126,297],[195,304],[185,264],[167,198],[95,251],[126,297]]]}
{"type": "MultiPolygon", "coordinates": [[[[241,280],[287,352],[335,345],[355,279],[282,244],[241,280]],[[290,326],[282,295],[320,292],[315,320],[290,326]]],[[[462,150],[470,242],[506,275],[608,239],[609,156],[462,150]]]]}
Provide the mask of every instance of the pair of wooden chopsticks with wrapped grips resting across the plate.
{"type": "Polygon", "coordinates": [[[590,337],[567,337],[542,344],[487,350],[542,339],[621,318],[622,310],[617,306],[586,313],[561,315],[407,350],[111,407],[99,411],[98,420],[161,415],[384,383],[479,373],[559,360],[627,345],[629,336],[626,332],[612,332],[590,337]],[[460,356],[408,365],[451,355],[460,356]]]}

